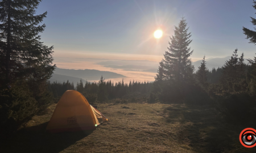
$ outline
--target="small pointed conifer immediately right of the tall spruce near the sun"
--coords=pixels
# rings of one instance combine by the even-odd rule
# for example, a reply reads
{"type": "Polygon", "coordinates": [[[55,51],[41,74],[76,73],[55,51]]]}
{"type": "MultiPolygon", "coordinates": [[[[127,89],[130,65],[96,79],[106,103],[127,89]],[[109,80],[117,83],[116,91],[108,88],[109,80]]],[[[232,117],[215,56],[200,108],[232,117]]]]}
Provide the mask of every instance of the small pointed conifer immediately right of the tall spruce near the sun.
{"type": "Polygon", "coordinates": [[[196,71],[196,77],[198,82],[205,86],[207,83],[207,73],[208,69],[206,67],[206,62],[205,62],[205,56],[202,59],[201,65],[198,67],[199,70],[196,71]]]}

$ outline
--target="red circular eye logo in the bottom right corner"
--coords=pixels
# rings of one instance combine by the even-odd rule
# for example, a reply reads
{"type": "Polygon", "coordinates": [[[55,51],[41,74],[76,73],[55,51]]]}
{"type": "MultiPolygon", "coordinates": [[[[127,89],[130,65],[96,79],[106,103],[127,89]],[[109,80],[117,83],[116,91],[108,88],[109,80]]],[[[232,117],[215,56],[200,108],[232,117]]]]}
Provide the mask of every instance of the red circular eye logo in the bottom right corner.
{"type": "Polygon", "coordinates": [[[246,148],[256,146],[256,130],[253,128],[246,128],[240,133],[240,142],[246,148]]]}

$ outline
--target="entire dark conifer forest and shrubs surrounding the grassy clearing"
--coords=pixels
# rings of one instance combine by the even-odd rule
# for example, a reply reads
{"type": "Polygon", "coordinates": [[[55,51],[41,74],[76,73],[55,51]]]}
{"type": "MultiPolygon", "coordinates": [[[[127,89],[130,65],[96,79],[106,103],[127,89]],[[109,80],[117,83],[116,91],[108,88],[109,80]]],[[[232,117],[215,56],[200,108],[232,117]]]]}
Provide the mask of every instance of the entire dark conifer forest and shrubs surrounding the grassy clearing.
{"type": "MultiPolygon", "coordinates": [[[[90,104],[129,98],[134,102],[141,96],[144,103],[211,105],[232,124],[256,119],[256,57],[245,59],[246,50],[234,48],[225,65],[209,70],[202,55],[195,71],[190,56],[196,50],[189,47],[192,34],[185,18],[170,37],[154,82],[112,82],[104,76],[98,82],[49,82],[56,66],[53,46],[40,41],[39,33],[46,27],[40,23],[47,15],[35,14],[40,2],[0,0],[0,138],[11,137],[67,90],[81,92],[90,104]]],[[[256,19],[251,23],[256,25],[256,19]]],[[[255,31],[243,27],[243,33],[256,44],[255,31]]]]}

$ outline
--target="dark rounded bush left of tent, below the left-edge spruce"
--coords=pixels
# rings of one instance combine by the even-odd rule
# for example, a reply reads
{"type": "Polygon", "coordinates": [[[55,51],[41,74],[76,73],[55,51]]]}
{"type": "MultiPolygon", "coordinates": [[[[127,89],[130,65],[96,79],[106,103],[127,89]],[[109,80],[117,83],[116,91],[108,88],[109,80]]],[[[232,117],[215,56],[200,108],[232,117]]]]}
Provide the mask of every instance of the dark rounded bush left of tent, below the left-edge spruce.
{"type": "Polygon", "coordinates": [[[8,138],[38,112],[38,102],[26,84],[0,91],[0,138],[8,138]]]}

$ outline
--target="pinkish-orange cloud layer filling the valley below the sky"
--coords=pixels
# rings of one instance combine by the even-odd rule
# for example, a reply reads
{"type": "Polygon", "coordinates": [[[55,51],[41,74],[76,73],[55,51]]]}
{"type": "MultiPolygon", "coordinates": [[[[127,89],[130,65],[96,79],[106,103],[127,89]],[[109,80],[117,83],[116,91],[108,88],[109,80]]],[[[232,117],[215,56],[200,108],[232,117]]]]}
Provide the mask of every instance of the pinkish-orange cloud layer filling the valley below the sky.
{"type": "MultiPolygon", "coordinates": [[[[212,70],[213,67],[216,69],[222,67],[229,58],[230,56],[224,58],[208,58],[206,59],[207,67],[209,70],[212,70]]],[[[159,62],[156,61],[107,58],[55,58],[54,62],[58,68],[77,70],[64,71],[56,69],[55,74],[82,78],[88,81],[98,81],[100,76],[103,75],[106,80],[113,80],[114,82],[122,79],[125,82],[130,82],[130,80],[138,80],[140,82],[154,81],[154,76],[159,66],[159,62]],[[105,73],[102,73],[102,71],[105,71],[105,73]]],[[[247,61],[245,60],[245,62],[247,61]]],[[[201,60],[193,62],[195,70],[198,69],[200,63],[201,60]]],[[[65,77],[62,77],[61,80],[63,78],[65,77]]],[[[54,79],[56,79],[56,76],[54,79]]]]}

